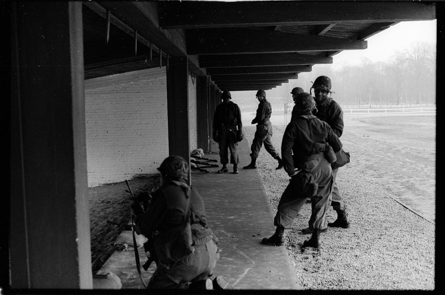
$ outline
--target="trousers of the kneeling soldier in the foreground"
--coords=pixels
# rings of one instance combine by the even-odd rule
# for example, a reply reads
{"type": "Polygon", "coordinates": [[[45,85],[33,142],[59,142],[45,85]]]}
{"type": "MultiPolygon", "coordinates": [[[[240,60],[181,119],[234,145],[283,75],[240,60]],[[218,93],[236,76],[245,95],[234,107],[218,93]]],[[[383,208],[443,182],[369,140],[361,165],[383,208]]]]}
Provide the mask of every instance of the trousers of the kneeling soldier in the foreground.
{"type": "Polygon", "coordinates": [[[219,259],[218,247],[212,241],[195,246],[190,256],[175,263],[169,269],[159,265],[154,271],[149,289],[188,289],[190,283],[206,279],[212,274],[219,259]]]}

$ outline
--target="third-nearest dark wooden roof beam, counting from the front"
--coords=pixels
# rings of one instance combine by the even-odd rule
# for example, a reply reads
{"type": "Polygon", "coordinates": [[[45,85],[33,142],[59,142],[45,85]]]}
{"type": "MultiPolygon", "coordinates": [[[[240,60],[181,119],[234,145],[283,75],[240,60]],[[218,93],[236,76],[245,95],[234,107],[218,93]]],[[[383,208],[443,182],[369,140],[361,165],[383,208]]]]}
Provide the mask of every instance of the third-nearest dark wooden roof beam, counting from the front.
{"type": "Polygon", "coordinates": [[[332,64],[332,57],[314,56],[299,53],[260,53],[201,55],[199,66],[202,68],[229,68],[274,65],[316,65],[332,64]]]}

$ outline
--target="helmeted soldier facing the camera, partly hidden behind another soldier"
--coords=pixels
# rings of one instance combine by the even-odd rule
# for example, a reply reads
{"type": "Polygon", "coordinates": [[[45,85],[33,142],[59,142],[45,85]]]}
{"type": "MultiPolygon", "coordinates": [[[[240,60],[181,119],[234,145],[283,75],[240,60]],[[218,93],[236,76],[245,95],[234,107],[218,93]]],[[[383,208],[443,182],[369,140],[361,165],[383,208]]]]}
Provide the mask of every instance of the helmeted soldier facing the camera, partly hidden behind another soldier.
{"type": "MultiPolygon", "coordinates": [[[[324,121],[329,124],[332,128],[332,131],[338,136],[341,137],[343,133],[343,111],[340,105],[334,101],[331,96],[328,94],[332,93],[332,82],[329,77],[320,76],[317,77],[311,87],[314,89],[315,101],[317,104],[317,111],[315,116],[319,118],[321,121],[324,121]]],[[[331,164],[332,167],[332,176],[334,177],[334,190],[332,190],[332,208],[337,212],[337,219],[334,222],[329,222],[328,226],[331,227],[342,227],[348,228],[351,226],[349,222],[348,213],[346,212],[346,205],[344,204],[344,200],[342,195],[340,194],[340,190],[338,189],[336,183],[336,177],[338,173],[338,167],[336,166],[336,162],[331,164]]],[[[305,234],[312,233],[313,230],[313,220],[309,220],[309,226],[302,230],[305,234]]]]}

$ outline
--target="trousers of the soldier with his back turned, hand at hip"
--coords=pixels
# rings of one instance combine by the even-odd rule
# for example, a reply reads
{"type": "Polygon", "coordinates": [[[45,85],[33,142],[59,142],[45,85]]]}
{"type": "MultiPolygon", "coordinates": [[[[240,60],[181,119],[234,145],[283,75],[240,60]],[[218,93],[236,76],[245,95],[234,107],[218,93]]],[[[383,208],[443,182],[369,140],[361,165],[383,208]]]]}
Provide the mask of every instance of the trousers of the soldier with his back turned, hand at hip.
{"type": "MultiPolygon", "coordinates": [[[[318,185],[318,190],[315,195],[310,197],[312,201],[311,220],[314,221],[313,227],[320,230],[328,228],[326,213],[331,205],[331,193],[334,184],[331,165],[324,158],[323,161],[319,169],[312,172],[313,182],[318,185]]],[[[304,175],[300,177],[304,177],[304,175]]],[[[295,217],[297,217],[304,203],[309,198],[307,194],[302,194],[302,191],[302,188],[295,185],[295,180],[291,179],[279,200],[278,211],[274,218],[275,226],[292,227],[295,217]]]]}

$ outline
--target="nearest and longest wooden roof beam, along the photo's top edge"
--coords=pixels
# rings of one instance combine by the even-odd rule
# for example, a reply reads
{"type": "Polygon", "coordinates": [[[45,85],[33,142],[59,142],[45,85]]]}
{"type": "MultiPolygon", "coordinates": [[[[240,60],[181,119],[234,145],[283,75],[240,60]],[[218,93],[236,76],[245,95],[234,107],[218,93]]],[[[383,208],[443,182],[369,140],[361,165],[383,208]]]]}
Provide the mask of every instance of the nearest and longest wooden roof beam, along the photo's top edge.
{"type": "Polygon", "coordinates": [[[351,21],[375,23],[436,18],[436,5],[426,1],[162,2],[159,4],[159,24],[164,29],[335,24],[351,21]],[[221,17],[221,12],[224,12],[224,17],[221,17]]]}

